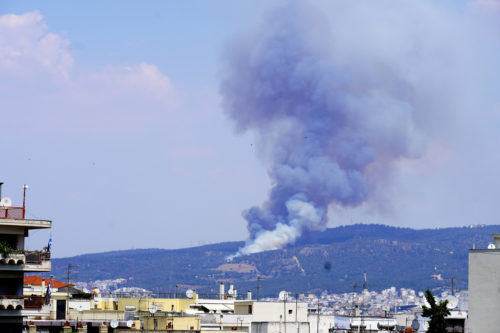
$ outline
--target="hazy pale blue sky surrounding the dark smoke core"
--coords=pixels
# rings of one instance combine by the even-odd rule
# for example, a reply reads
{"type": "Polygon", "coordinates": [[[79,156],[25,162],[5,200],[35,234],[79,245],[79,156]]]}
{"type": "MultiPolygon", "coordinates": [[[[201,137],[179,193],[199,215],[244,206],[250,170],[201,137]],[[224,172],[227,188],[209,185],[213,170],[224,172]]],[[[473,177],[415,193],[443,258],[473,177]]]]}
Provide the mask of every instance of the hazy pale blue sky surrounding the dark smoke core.
{"type": "MultiPolygon", "coordinates": [[[[417,151],[382,159],[362,200],[328,201],[321,227],[498,224],[499,15],[494,0],[0,2],[2,194],[20,205],[29,185],[27,216],[53,227],[28,248],[52,237],[55,257],[248,239],[283,127],[242,126],[227,84],[266,61],[273,29],[318,17],[305,47],[328,68],[375,87],[397,73],[418,106],[417,151]]],[[[401,128],[385,117],[367,140],[401,128]]]]}

